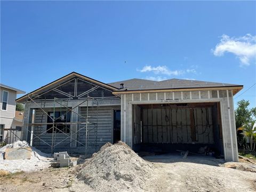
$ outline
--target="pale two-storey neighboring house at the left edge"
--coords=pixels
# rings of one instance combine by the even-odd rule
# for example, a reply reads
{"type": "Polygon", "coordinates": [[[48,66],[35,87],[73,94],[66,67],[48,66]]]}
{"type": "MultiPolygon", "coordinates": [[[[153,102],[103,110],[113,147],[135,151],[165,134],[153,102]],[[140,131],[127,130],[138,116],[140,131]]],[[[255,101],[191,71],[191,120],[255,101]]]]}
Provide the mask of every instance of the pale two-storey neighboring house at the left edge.
{"type": "Polygon", "coordinates": [[[7,140],[8,130],[21,129],[22,119],[15,113],[15,99],[17,94],[26,92],[3,84],[0,84],[0,91],[0,140],[2,142],[7,140]]]}

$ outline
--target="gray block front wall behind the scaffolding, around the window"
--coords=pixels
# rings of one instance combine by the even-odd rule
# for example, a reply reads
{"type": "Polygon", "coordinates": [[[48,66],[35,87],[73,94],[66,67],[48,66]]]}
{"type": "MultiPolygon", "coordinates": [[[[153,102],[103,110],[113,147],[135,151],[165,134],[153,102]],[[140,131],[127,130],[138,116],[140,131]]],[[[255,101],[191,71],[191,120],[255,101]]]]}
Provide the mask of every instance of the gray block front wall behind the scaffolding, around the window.
{"type": "MultiPolygon", "coordinates": [[[[114,109],[119,109],[119,106],[104,106],[104,107],[99,107],[98,109],[98,134],[97,134],[97,146],[95,146],[95,139],[96,139],[96,132],[94,129],[94,125],[90,124],[88,126],[89,131],[89,142],[88,147],[91,149],[96,149],[98,150],[101,146],[103,146],[106,142],[112,142],[112,135],[113,135],[113,110],[114,109]]],[[[52,108],[47,109],[46,111],[52,111],[52,108]]],[[[55,109],[56,111],[58,109],[55,109]]],[[[95,108],[89,108],[88,115],[91,116],[88,121],[91,123],[97,123],[97,110],[95,108]]],[[[71,112],[72,113],[72,112],[71,112]]],[[[86,107],[81,107],[79,109],[79,114],[81,116],[78,118],[79,122],[86,122],[86,116],[87,116],[87,111],[86,107]],[[82,117],[83,116],[83,117],[82,117]]],[[[72,115],[71,115],[72,116],[72,115]]],[[[47,115],[43,113],[41,109],[36,109],[35,110],[35,123],[46,123],[47,121],[47,115]]],[[[72,121],[72,119],[71,119],[72,121]]],[[[76,143],[77,147],[84,147],[85,146],[85,134],[86,134],[86,124],[81,124],[77,125],[77,140],[78,142],[76,143]]],[[[34,126],[34,133],[35,135],[40,135],[43,132],[46,131],[46,125],[38,125],[34,126]]],[[[71,132],[71,131],[70,131],[71,132]]],[[[74,133],[73,133],[74,134],[74,133]]],[[[67,133],[67,135],[70,135],[70,133],[67,133]]],[[[70,138],[67,138],[66,134],[63,133],[57,133],[56,137],[53,138],[53,143],[57,144],[61,142],[59,145],[55,146],[55,148],[63,148],[63,149],[68,149],[70,147],[70,138]],[[63,141],[64,140],[64,141],[63,141]]],[[[52,133],[43,133],[40,136],[40,139],[35,138],[33,141],[33,146],[36,147],[50,147],[49,145],[52,144],[52,133]],[[43,141],[42,141],[43,140],[43,141]],[[49,145],[47,145],[46,143],[49,145]]],[[[72,140],[73,143],[75,143],[74,140],[72,140]]]]}

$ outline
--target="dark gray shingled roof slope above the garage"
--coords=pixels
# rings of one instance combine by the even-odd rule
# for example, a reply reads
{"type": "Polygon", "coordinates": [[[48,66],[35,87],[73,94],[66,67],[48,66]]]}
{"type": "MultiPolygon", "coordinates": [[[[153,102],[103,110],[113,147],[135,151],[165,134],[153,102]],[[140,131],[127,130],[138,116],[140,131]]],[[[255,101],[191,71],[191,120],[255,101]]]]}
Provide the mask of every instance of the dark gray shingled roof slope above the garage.
{"type": "Polygon", "coordinates": [[[135,91],[135,90],[159,90],[159,89],[182,89],[196,87],[222,87],[222,86],[241,86],[228,83],[215,83],[205,81],[194,81],[185,79],[167,79],[164,81],[150,81],[146,79],[133,78],[125,81],[108,83],[111,86],[117,87],[118,91],[135,91]],[[124,89],[119,89],[120,84],[124,84],[124,89]]]}

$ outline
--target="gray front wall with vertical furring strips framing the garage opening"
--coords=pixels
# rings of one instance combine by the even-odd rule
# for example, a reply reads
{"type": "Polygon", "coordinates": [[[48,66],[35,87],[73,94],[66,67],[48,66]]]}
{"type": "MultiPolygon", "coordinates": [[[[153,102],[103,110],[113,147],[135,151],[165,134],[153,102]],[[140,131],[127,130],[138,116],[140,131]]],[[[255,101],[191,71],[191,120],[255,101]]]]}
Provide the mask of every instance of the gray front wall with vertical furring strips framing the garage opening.
{"type": "Polygon", "coordinates": [[[231,90],[121,94],[121,140],[133,146],[132,105],[139,103],[220,102],[225,159],[238,161],[235,114],[231,90]]]}

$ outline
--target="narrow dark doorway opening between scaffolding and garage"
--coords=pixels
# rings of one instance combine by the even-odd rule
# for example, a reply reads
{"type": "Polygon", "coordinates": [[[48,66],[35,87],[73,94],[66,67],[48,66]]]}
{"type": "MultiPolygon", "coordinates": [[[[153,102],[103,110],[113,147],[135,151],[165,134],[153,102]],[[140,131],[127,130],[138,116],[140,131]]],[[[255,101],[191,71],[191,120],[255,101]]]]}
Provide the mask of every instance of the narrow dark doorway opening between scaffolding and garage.
{"type": "Polygon", "coordinates": [[[121,110],[114,110],[113,143],[121,140],[121,110]]]}

